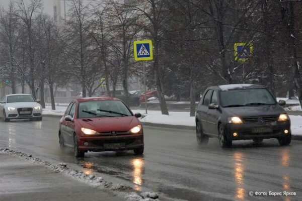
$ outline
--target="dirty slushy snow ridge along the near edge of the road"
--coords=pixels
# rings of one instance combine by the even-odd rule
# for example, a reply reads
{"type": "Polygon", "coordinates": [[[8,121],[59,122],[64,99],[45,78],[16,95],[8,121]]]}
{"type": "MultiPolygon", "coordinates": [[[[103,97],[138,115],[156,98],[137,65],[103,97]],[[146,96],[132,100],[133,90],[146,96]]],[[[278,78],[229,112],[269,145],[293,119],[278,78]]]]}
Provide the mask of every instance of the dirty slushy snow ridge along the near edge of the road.
{"type": "Polygon", "coordinates": [[[84,182],[90,186],[100,188],[102,190],[109,190],[113,194],[122,198],[126,198],[129,201],[159,201],[159,194],[156,192],[142,192],[140,194],[137,194],[137,192],[134,192],[133,188],[129,186],[125,186],[122,183],[108,182],[105,181],[102,177],[95,177],[95,175],[92,174],[87,175],[82,171],[70,169],[65,163],[51,163],[48,161],[41,160],[39,158],[35,158],[32,155],[27,155],[25,153],[8,148],[0,148],[0,153],[17,156],[19,158],[28,160],[34,164],[42,165],[56,173],[64,174],[75,180],[84,182]]]}

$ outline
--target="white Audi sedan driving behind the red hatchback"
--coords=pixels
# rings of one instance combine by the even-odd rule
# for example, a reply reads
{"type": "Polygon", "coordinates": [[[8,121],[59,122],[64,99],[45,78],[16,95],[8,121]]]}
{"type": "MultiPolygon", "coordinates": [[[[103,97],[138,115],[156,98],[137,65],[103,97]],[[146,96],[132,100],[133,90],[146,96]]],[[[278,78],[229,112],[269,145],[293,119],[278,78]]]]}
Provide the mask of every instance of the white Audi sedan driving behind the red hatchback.
{"type": "Polygon", "coordinates": [[[42,107],[31,94],[10,94],[0,100],[0,117],[42,121],[42,107]]]}

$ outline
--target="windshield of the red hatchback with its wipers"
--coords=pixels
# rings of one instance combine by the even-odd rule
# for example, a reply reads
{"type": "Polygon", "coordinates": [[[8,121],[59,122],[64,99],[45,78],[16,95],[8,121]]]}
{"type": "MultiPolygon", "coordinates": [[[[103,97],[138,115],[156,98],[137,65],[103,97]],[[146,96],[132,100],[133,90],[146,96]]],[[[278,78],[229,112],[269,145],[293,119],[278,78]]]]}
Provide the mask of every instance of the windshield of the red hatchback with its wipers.
{"type": "Polygon", "coordinates": [[[125,116],[132,114],[120,100],[97,100],[82,102],[79,105],[78,118],[125,116]]]}

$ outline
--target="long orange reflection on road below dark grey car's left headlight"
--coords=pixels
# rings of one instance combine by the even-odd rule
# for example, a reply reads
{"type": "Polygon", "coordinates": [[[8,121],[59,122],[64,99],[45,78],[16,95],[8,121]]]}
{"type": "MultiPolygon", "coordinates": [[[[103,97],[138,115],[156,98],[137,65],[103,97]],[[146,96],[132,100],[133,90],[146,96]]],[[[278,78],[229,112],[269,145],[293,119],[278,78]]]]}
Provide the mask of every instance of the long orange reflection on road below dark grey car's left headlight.
{"type": "Polygon", "coordinates": [[[234,158],[234,177],[237,183],[236,197],[239,199],[244,199],[246,190],[243,187],[244,184],[244,165],[243,165],[243,155],[240,152],[235,152],[234,158]]]}

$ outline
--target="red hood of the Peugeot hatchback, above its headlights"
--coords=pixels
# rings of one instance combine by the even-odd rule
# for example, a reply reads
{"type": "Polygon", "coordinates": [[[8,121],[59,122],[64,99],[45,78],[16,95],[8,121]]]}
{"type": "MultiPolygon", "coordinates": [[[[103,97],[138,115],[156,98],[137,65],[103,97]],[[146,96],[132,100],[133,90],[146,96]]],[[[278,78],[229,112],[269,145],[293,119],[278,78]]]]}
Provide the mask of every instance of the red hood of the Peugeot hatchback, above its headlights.
{"type": "Polygon", "coordinates": [[[134,116],[84,118],[77,119],[77,121],[82,127],[98,132],[128,131],[140,124],[134,116]]]}

